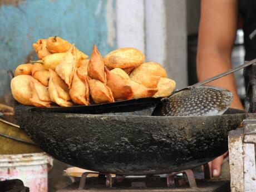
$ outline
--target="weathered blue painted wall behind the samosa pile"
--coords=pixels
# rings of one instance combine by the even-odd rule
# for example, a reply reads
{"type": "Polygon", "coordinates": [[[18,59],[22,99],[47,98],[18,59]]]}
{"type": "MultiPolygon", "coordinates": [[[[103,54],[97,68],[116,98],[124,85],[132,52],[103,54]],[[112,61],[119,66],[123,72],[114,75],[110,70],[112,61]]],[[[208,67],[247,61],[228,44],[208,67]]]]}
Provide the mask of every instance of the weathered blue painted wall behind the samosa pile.
{"type": "MultiPolygon", "coordinates": [[[[61,36],[87,55],[93,44],[102,55],[116,48],[115,38],[107,40],[107,0],[19,0],[0,6],[0,97],[8,91],[8,68],[36,58],[32,43],[38,38],[61,36]]],[[[115,8],[115,1],[110,6],[115,8]]]]}

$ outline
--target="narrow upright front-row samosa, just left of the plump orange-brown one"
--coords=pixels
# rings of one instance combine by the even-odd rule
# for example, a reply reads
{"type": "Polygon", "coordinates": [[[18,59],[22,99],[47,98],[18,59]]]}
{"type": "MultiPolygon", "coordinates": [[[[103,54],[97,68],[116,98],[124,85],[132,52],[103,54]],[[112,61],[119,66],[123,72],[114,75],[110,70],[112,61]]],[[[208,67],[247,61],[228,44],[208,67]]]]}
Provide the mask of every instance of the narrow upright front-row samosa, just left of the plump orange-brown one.
{"type": "Polygon", "coordinates": [[[75,104],[90,105],[89,85],[87,79],[81,80],[75,71],[70,89],[70,97],[75,104]]]}

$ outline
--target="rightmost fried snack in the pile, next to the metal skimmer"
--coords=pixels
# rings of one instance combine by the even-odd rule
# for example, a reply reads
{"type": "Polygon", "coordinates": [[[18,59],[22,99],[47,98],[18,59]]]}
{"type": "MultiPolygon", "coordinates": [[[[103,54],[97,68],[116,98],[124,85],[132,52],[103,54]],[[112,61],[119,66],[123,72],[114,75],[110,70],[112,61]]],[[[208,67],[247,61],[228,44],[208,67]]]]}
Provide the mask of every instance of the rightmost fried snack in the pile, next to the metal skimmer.
{"type": "Polygon", "coordinates": [[[161,77],[157,85],[158,91],[155,93],[154,97],[169,97],[173,90],[175,89],[176,83],[170,78],[161,77]]]}

